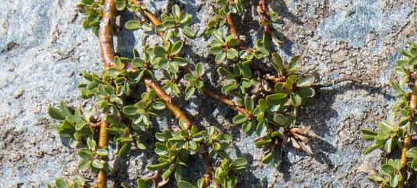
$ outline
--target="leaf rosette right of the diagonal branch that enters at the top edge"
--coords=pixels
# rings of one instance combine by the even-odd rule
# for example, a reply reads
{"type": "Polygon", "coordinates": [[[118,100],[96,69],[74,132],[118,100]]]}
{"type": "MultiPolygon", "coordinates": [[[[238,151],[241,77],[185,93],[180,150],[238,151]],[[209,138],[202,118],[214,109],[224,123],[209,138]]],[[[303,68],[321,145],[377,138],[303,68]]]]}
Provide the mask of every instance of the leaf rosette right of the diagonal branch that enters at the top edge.
{"type": "Polygon", "coordinates": [[[165,38],[178,38],[180,33],[190,39],[196,38],[196,32],[190,27],[192,15],[188,12],[182,12],[178,5],[173,5],[171,14],[161,15],[162,23],[156,26],[156,31],[165,32],[165,38]]]}

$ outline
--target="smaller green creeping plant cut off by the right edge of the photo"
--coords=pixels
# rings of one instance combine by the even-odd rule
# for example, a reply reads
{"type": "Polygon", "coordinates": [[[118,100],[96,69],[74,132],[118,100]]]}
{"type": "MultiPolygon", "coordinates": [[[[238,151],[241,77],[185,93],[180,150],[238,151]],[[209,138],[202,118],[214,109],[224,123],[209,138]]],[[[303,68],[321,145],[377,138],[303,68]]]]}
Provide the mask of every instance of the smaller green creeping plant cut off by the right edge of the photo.
{"type": "Polygon", "coordinates": [[[395,67],[399,82],[392,83],[397,95],[392,109],[393,119],[379,123],[378,131],[362,130],[364,139],[374,141],[364,151],[365,154],[380,148],[389,156],[383,161],[378,173],[369,176],[369,180],[381,188],[409,187],[407,183],[412,184],[412,181],[408,181],[408,174],[412,170],[417,171],[417,147],[412,147],[417,121],[417,45],[411,43],[409,52],[403,51],[403,54],[404,59],[399,60],[395,67]],[[391,158],[390,154],[394,152],[401,153],[399,159],[391,158]]]}

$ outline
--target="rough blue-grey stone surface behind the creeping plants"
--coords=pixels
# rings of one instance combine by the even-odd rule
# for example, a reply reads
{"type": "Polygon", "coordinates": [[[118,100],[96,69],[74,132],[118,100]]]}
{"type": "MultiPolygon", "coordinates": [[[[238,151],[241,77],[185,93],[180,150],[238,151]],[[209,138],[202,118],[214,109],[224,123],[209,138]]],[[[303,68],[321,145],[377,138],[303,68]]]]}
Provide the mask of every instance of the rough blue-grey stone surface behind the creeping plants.
{"type": "MultiPolygon", "coordinates": [[[[145,1],[148,2],[148,1],[145,1]]],[[[176,2],[176,1],[174,1],[176,2]]],[[[208,1],[184,0],[179,3],[195,16],[200,31],[212,9],[208,1]]],[[[40,188],[54,178],[72,177],[78,156],[75,149],[61,143],[48,126],[49,104],[61,99],[79,104],[76,88],[80,72],[101,69],[98,41],[80,25],[82,15],[75,1],[3,0],[0,3],[0,185],[2,188],[40,188]]],[[[149,3],[160,13],[166,0],[149,3]]],[[[314,155],[286,149],[281,170],[259,162],[261,150],[254,147],[256,136],[233,131],[240,138],[234,144],[238,156],[250,159],[242,187],[274,188],[371,188],[366,174],[376,168],[380,152],[362,156],[369,146],[360,139],[359,129],[374,129],[388,116],[393,95],[388,84],[399,49],[415,40],[417,14],[412,0],[286,0],[273,4],[281,21],[274,25],[285,39],[277,49],[288,59],[303,56],[304,71],[314,73],[319,82],[340,77],[359,77],[370,84],[343,83],[317,93],[317,104],[301,115],[303,125],[313,126],[322,140],[314,142],[314,155]]],[[[251,12],[235,17],[238,30],[247,40],[259,35],[258,22],[251,12]]],[[[162,10],[163,11],[163,10],[162,10]]],[[[121,22],[133,15],[125,14],[121,22]]],[[[255,16],[256,18],[256,16],[255,16]]],[[[131,55],[131,48],[142,49],[140,31],[119,32],[118,52],[131,55]]],[[[158,42],[151,36],[148,42],[158,42]]],[[[208,63],[207,42],[189,41],[187,54],[195,62],[204,60],[208,78],[216,80],[214,64],[208,63]]],[[[211,61],[212,62],[212,61],[211,61]]],[[[181,102],[197,122],[230,125],[234,111],[227,106],[194,98],[181,102]],[[199,108],[203,105],[204,108],[199,108]]],[[[161,118],[161,126],[171,119],[161,118]]],[[[154,160],[151,151],[117,161],[117,175],[109,185],[133,182],[148,173],[145,164],[154,160]],[[128,168],[125,168],[128,167],[128,168]]],[[[196,160],[196,165],[200,165],[196,160]]],[[[196,168],[201,169],[201,168],[196,168]]],[[[201,175],[203,171],[192,169],[201,175]]],[[[113,186],[111,186],[113,187],[113,186]]]]}

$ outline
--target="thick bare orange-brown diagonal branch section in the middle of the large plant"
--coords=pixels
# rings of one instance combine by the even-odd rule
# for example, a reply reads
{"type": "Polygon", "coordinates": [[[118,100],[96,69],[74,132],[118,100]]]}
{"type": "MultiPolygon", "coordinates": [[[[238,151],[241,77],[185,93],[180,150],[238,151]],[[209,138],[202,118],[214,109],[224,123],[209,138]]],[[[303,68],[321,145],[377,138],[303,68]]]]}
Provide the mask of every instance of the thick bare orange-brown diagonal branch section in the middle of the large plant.
{"type": "Polygon", "coordinates": [[[153,82],[152,79],[145,79],[144,82],[146,87],[153,89],[156,95],[164,101],[165,106],[174,114],[174,116],[184,122],[186,129],[191,129],[190,119],[188,119],[188,117],[183,113],[183,111],[181,111],[181,109],[178,108],[178,106],[171,103],[171,97],[169,97],[168,94],[163,91],[161,86],[153,82]]]}

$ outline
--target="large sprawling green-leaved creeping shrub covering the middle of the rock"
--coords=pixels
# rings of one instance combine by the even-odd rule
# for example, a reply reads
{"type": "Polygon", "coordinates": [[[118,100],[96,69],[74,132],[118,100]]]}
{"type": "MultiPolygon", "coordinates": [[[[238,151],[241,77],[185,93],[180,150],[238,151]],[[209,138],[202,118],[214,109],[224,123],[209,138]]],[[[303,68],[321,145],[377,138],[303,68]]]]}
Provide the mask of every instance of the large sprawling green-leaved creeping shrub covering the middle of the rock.
{"type": "MultiPolygon", "coordinates": [[[[193,124],[173,99],[207,96],[238,111],[230,120],[245,133],[258,135],[254,142],[264,150],[263,163],[278,167],[286,143],[312,153],[308,142],[314,134],[307,127],[299,127],[297,114],[312,101],[314,77],[299,71],[300,57],[286,62],[272,50],[281,41],[274,34],[271,23],[277,17],[268,2],[260,0],[256,5],[264,34],[251,47],[249,41],[239,37],[233,21],[233,15],[246,11],[244,0],[217,0],[216,15],[199,35],[192,27],[191,14],[178,5],[159,19],[139,0],[81,1],[79,9],[86,15],[83,26],[98,35],[105,69],[98,74],[82,74],[85,81],[79,84],[80,97],[90,101],[88,107],[74,109],[62,102],[48,112],[59,121],[59,134],[79,145],[79,170],[98,173],[95,187],[106,187],[107,176],[113,173],[108,163],[108,142],[116,146],[119,158],[151,148],[157,154],[157,162],[147,166],[155,173],[138,179],[134,187],[161,187],[170,182],[179,188],[240,187],[241,171],[248,161],[229,156],[232,136],[221,131],[221,125],[193,124]],[[138,15],[124,27],[141,29],[148,35],[156,32],[163,42],[146,46],[141,53],[133,49],[133,58],[118,57],[113,47],[113,24],[116,13],[123,11],[138,15]],[[204,64],[183,56],[183,40],[201,35],[210,41],[208,49],[216,59],[215,63],[206,63],[216,64],[223,78],[221,88],[214,92],[204,84],[204,64]],[[259,64],[273,67],[273,71],[265,71],[259,64]],[[178,123],[152,132],[152,120],[163,110],[171,111],[178,123]],[[144,134],[154,135],[154,146],[143,141],[144,134]],[[204,158],[206,171],[192,182],[181,171],[192,168],[189,161],[198,156],[204,158]]],[[[399,137],[403,135],[398,133],[399,137]]],[[[80,178],[73,183],[58,179],[55,187],[81,188],[87,184],[90,182],[80,178]]],[[[125,183],[122,186],[130,187],[125,183]]]]}

